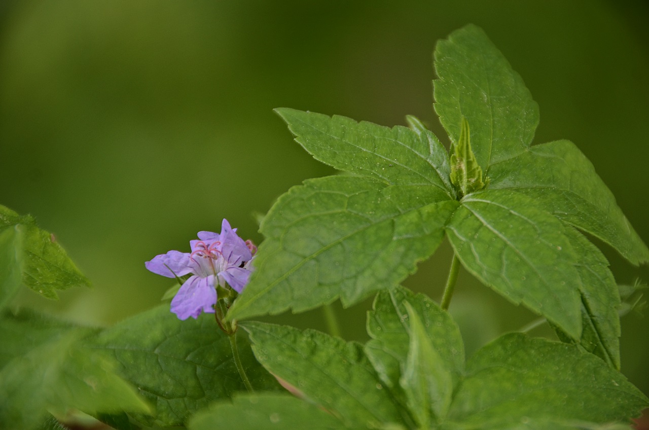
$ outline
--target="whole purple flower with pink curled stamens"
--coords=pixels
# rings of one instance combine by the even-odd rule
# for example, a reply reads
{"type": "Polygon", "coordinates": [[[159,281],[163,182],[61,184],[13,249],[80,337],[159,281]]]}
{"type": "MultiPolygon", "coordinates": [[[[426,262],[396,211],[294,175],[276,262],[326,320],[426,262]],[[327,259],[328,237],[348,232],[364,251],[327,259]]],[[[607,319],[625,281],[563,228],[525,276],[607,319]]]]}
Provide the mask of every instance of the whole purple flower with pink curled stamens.
{"type": "Polygon", "coordinates": [[[171,312],[180,320],[198,318],[201,311],[214,313],[217,285],[227,284],[242,292],[256,251],[252,242],[244,242],[225,219],[221,234],[200,231],[198,236],[199,240],[190,240],[191,253],[169,251],[144,263],[151,272],[169,278],[192,274],[171,301],[171,312]]]}

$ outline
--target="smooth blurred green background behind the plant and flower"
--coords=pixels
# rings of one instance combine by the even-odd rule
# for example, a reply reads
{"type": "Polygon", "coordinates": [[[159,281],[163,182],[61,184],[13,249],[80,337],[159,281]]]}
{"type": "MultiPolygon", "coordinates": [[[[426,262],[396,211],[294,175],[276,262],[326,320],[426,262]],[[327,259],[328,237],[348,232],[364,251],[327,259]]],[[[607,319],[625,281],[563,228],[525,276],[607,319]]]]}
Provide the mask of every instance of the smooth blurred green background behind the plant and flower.
{"type": "MultiPolygon", "coordinates": [[[[649,8],[574,1],[8,1],[0,3],[0,204],[56,234],[92,289],[25,305],[90,324],[160,303],[143,262],[333,173],[272,112],[404,125],[432,110],[435,41],[485,29],[541,108],[535,142],[569,138],[649,241],[649,8]]],[[[620,283],[649,279],[604,248],[620,283]]],[[[441,295],[444,244],[405,283],[441,295]]],[[[337,312],[363,340],[367,301],[337,312]]],[[[535,319],[462,272],[451,310],[469,351],[535,319]]],[[[324,327],[317,310],[275,318],[324,327]]],[[[649,393],[649,320],[622,320],[622,370],[649,393]]],[[[533,334],[543,335],[545,329],[533,334]]]]}

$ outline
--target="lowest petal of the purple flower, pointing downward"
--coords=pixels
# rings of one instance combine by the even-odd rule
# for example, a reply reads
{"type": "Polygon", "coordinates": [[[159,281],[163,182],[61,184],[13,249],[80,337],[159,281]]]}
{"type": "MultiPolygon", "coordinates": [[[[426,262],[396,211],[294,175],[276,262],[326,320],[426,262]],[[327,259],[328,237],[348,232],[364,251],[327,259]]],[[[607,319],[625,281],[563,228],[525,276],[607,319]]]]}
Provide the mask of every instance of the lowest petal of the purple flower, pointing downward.
{"type": "Polygon", "coordinates": [[[202,312],[214,314],[214,303],[216,303],[216,288],[214,287],[214,275],[190,277],[178,290],[171,301],[171,312],[175,313],[180,320],[198,318],[202,312]]]}

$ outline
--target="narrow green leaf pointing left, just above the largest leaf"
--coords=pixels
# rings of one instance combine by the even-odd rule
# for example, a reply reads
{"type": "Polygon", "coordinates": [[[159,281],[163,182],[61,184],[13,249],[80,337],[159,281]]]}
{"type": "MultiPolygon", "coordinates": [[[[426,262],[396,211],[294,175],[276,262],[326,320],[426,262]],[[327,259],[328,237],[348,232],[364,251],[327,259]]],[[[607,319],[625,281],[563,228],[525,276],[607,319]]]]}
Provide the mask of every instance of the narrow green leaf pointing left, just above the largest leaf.
{"type": "Polygon", "coordinates": [[[447,153],[434,134],[392,129],[344,116],[277,108],[295,141],[313,158],[338,170],[368,175],[386,184],[431,185],[452,197],[445,184],[448,171],[440,159],[447,153]],[[439,170],[438,170],[439,169],[439,170]]]}

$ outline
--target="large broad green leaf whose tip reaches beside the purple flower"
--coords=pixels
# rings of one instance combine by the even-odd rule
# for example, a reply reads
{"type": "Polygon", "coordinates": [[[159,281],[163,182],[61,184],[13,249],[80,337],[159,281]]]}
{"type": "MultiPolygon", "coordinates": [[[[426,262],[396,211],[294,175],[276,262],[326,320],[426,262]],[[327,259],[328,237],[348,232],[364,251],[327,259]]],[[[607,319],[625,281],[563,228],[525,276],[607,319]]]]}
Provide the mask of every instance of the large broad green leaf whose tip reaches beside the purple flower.
{"type": "Polygon", "coordinates": [[[398,285],[430,257],[456,201],[434,186],[350,176],[295,186],[264,218],[266,236],[228,318],[344,306],[398,285]]]}

